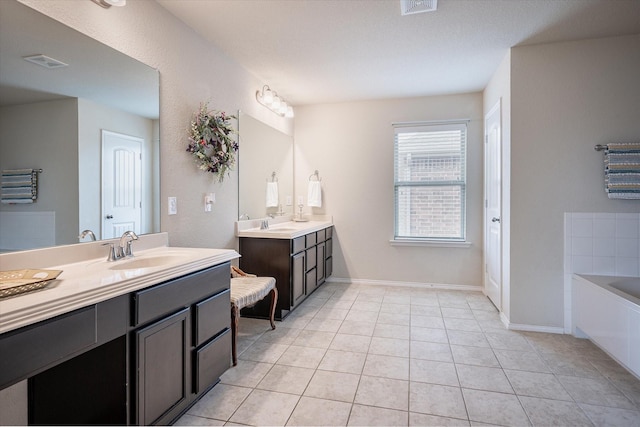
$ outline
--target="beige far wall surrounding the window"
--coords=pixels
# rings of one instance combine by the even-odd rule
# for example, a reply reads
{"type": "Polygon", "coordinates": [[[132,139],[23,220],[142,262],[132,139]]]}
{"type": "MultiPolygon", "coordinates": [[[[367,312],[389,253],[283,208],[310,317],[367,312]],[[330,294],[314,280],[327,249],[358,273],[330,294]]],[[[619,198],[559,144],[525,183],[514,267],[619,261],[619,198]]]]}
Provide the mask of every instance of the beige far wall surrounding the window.
{"type": "Polygon", "coordinates": [[[482,281],[482,94],[313,105],[296,109],[295,192],[322,178],[333,215],[334,278],[480,286],[482,281]],[[470,119],[467,156],[469,248],[391,246],[392,123],[470,119]]]}

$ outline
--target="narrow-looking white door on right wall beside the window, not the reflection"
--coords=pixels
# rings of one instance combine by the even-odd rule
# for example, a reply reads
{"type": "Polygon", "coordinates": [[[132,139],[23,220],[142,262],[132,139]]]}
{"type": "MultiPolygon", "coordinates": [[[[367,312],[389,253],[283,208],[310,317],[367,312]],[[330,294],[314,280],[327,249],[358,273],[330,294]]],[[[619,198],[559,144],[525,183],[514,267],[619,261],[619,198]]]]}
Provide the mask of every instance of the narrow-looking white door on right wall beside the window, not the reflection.
{"type": "Polygon", "coordinates": [[[502,226],[500,101],[485,117],[485,277],[484,292],[502,311],[502,226]]]}

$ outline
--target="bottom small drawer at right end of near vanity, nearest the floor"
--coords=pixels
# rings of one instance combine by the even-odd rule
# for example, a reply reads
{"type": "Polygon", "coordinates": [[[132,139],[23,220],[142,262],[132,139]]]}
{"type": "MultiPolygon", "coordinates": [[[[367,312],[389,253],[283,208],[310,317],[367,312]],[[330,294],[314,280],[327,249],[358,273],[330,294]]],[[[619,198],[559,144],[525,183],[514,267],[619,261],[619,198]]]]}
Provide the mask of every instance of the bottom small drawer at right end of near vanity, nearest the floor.
{"type": "Polygon", "coordinates": [[[194,392],[200,393],[215,384],[231,366],[231,330],[227,329],[209,344],[196,350],[194,392]]]}

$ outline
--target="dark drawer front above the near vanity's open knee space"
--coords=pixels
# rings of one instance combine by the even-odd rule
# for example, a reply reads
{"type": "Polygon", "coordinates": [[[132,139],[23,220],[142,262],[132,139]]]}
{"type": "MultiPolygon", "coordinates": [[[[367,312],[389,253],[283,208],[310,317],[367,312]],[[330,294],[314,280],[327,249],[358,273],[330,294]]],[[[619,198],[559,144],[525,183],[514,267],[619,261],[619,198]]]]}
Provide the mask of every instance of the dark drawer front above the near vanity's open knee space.
{"type": "Polygon", "coordinates": [[[97,342],[96,306],[7,332],[0,338],[0,389],[97,342]]]}

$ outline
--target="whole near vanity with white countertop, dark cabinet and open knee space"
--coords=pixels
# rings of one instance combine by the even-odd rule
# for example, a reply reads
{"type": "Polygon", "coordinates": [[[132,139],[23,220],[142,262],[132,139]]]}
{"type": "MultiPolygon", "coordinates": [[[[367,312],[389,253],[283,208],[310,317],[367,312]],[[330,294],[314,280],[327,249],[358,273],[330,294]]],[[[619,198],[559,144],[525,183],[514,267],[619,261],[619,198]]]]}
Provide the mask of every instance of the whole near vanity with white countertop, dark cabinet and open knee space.
{"type": "Polygon", "coordinates": [[[0,300],[0,390],[27,381],[29,424],[171,423],[230,366],[237,256],[157,247],[56,266],[47,288],[0,300]]]}

